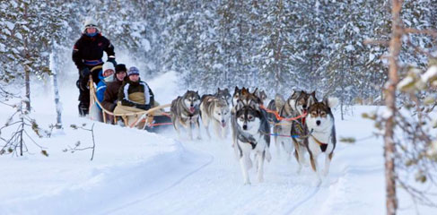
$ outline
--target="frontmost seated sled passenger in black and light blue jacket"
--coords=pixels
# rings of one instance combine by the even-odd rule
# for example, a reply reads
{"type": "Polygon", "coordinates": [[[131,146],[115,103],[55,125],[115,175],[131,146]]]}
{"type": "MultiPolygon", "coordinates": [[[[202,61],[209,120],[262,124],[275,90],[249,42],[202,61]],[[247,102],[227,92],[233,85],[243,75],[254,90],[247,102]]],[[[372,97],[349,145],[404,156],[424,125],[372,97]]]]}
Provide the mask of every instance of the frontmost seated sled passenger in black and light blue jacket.
{"type": "MultiPolygon", "coordinates": [[[[127,79],[118,90],[117,107],[114,114],[143,112],[153,107],[153,92],[147,83],[140,80],[140,73],[135,66],[127,71],[127,79]]],[[[127,124],[132,125],[138,116],[127,116],[127,124]]],[[[143,124],[144,125],[144,124],[143,124]]],[[[142,125],[138,125],[141,127],[142,125]]]]}

